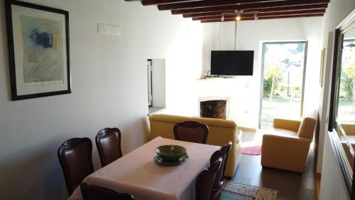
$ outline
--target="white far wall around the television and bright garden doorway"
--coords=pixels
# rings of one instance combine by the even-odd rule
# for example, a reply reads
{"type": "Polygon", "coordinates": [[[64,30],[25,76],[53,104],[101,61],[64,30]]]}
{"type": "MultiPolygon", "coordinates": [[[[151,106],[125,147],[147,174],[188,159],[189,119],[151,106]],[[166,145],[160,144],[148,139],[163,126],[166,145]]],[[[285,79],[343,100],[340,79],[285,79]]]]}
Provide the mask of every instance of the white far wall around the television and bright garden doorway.
{"type": "MultiPolygon", "coordinates": [[[[206,93],[229,93],[230,116],[241,127],[258,127],[261,93],[262,43],[266,41],[308,41],[305,80],[305,111],[315,108],[319,93],[320,36],[322,17],[300,19],[274,19],[239,21],[237,26],[237,50],[254,51],[253,76],[238,76],[232,80],[217,80],[210,84],[206,93]],[[218,87],[213,87],[218,85],[218,87]]],[[[212,50],[234,50],[234,22],[205,23],[203,40],[203,72],[210,68],[212,50]]],[[[201,84],[201,83],[200,83],[201,84]]]]}

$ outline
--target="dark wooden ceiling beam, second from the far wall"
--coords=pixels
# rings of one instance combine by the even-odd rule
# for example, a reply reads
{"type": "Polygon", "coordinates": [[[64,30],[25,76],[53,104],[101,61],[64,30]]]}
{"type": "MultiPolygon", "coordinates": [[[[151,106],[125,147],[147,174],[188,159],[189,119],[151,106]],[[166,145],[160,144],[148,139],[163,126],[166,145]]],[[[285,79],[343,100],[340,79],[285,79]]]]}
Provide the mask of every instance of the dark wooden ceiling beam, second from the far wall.
{"type": "MultiPolygon", "coordinates": [[[[324,14],[325,9],[317,9],[311,11],[285,11],[285,12],[269,12],[263,14],[257,14],[258,18],[263,19],[263,17],[273,17],[273,16],[299,16],[303,14],[324,14]]],[[[225,14],[224,19],[236,19],[236,14],[225,14]]],[[[241,19],[244,18],[254,18],[254,14],[241,14],[241,19]]],[[[202,16],[202,17],[194,17],[192,20],[194,21],[204,21],[204,20],[220,20],[222,19],[222,15],[220,16],[202,16]]]]}

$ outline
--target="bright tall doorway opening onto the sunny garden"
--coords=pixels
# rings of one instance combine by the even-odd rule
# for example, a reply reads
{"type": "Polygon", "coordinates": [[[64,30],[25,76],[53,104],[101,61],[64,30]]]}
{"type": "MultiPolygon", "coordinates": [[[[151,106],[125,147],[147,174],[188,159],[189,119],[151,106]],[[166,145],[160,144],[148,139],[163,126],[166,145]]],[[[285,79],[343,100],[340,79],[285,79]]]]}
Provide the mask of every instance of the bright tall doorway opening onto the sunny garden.
{"type": "Polygon", "coordinates": [[[307,41],[263,43],[259,128],[302,117],[307,41]]]}

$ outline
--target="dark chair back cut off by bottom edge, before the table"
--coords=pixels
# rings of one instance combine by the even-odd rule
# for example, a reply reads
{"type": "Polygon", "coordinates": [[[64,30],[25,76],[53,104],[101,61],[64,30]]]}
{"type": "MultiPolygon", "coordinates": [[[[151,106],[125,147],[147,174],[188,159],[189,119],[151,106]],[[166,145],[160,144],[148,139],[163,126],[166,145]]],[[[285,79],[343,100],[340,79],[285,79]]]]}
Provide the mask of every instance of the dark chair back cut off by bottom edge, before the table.
{"type": "Polygon", "coordinates": [[[119,193],[101,186],[80,184],[83,200],[134,200],[131,194],[119,193]]]}

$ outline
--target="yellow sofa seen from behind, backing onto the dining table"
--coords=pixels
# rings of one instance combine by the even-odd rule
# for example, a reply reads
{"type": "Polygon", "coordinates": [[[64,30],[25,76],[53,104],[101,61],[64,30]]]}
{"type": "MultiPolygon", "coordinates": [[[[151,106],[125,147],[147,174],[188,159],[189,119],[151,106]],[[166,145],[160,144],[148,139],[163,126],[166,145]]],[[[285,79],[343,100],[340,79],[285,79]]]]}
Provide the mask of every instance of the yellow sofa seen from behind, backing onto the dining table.
{"type": "Polygon", "coordinates": [[[178,115],[155,114],[149,116],[151,125],[151,139],[165,137],[174,139],[173,127],[177,122],[195,120],[203,122],[209,127],[207,144],[224,146],[231,141],[231,152],[228,154],[224,176],[233,177],[241,154],[241,131],[237,130],[236,123],[231,120],[212,119],[204,117],[182,117],[178,115]]]}

